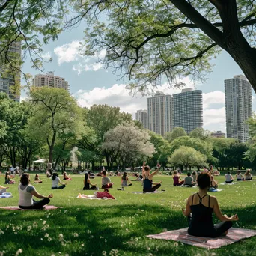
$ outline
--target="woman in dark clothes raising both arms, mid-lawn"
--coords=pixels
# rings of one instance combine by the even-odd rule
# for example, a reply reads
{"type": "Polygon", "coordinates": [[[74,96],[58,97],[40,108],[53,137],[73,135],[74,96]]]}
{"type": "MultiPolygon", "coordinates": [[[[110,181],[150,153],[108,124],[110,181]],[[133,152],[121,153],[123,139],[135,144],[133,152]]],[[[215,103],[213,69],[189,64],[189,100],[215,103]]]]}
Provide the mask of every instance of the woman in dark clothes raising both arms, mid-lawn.
{"type": "Polygon", "coordinates": [[[156,171],[152,172],[152,174],[150,174],[150,167],[147,165],[145,166],[146,162],[143,162],[143,166],[142,166],[142,177],[143,177],[143,192],[154,192],[156,191],[156,189],[159,189],[159,187],[161,186],[162,181],[160,181],[159,183],[153,183],[153,176],[157,174],[157,172],[159,171],[159,168],[161,167],[161,165],[157,164],[157,169],[156,171]],[[155,186],[152,186],[155,185],[155,186]]]}

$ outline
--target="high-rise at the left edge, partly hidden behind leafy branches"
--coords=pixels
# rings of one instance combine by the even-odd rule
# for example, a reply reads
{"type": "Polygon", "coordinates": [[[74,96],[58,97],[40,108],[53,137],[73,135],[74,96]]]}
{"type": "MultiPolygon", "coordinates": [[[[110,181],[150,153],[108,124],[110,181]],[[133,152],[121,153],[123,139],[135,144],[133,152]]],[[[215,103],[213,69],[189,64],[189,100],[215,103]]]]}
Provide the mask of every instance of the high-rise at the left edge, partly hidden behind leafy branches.
{"type": "MultiPolygon", "coordinates": [[[[8,52],[16,53],[16,56],[14,56],[13,58],[19,59],[20,56],[21,56],[21,42],[13,42],[13,43],[11,43],[8,52]]],[[[12,57],[10,57],[10,58],[12,58],[12,57]]],[[[18,68],[20,68],[20,67],[18,67],[18,68]]],[[[14,79],[11,76],[10,77],[4,77],[4,76],[0,75],[0,92],[4,92],[5,94],[8,94],[10,99],[19,101],[20,97],[19,96],[15,96],[12,93],[12,91],[10,90],[11,86],[15,85],[15,80],[16,80],[16,82],[20,83],[20,77],[21,77],[20,72],[15,72],[15,76],[16,77],[14,79]]]]}

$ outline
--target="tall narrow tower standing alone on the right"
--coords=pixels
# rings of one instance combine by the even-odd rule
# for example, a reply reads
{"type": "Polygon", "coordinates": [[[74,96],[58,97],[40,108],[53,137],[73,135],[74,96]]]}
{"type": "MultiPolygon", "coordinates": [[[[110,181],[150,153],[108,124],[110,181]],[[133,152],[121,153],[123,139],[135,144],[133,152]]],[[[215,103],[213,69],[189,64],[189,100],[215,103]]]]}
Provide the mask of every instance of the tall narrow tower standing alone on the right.
{"type": "Polygon", "coordinates": [[[252,87],[243,75],[225,79],[224,83],[227,138],[246,142],[249,140],[246,120],[252,117],[252,87]]]}

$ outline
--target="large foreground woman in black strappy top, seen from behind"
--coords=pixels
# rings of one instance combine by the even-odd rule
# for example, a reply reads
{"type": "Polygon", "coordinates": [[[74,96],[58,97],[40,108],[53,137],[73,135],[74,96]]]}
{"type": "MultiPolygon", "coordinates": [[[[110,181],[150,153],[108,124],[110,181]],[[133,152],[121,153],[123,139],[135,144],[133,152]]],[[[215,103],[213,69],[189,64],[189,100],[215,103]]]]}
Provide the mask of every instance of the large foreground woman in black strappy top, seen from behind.
{"type": "Polygon", "coordinates": [[[196,237],[219,237],[228,234],[232,221],[237,221],[237,214],[228,217],[223,215],[214,196],[207,194],[210,188],[210,176],[207,173],[198,175],[199,192],[189,196],[183,215],[189,217],[188,233],[196,237]],[[222,221],[213,225],[213,212],[222,221]]]}

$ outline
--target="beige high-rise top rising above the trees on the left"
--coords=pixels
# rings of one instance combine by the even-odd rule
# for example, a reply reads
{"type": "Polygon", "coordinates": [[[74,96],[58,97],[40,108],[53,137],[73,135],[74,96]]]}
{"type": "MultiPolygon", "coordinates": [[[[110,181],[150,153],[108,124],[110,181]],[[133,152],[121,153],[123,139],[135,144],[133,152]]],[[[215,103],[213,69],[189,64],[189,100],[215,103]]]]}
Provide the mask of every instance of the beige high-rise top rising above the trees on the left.
{"type": "Polygon", "coordinates": [[[70,91],[68,82],[60,76],[55,76],[53,72],[46,74],[39,74],[34,76],[33,86],[36,87],[49,87],[49,88],[63,88],[67,91],[70,91]]]}

